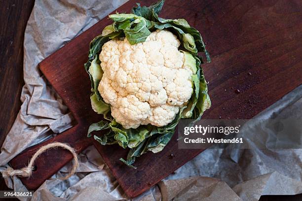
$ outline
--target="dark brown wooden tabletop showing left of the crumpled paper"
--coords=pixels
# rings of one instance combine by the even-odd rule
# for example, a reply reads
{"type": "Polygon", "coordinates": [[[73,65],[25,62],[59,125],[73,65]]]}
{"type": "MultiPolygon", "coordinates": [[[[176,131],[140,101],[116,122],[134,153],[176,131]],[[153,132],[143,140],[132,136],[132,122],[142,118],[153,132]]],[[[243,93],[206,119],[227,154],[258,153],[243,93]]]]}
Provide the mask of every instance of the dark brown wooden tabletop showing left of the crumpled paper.
{"type": "MultiPolygon", "coordinates": [[[[0,147],[21,105],[24,31],[34,2],[0,0],[0,147]]],[[[0,190],[8,190],[1,176],[0,190]]]]}

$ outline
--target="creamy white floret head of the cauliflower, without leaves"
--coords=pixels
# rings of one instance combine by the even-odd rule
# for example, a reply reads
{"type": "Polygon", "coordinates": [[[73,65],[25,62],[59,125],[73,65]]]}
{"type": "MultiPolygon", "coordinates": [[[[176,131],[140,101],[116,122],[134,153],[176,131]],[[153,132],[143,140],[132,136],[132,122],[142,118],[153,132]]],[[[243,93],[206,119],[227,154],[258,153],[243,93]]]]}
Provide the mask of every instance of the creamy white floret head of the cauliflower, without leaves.
{"type": "Polygon", "coordinates": [[[98,91],[125,129],[165,126],[191,98],[195,59],[179,51],[180,44],[173,33],[156,30],[145,42],[131,45],[124,38],[103,45],[98,91]]]}

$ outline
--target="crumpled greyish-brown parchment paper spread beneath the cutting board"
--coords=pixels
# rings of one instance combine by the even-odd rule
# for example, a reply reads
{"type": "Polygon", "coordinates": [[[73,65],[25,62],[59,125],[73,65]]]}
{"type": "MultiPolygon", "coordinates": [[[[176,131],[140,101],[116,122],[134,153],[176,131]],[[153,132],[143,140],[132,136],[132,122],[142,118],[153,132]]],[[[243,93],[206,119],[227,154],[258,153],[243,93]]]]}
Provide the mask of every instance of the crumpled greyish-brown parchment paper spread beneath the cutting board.
{"type": "MultiPolygon", "coordinates": [[[[73,117],[38,70],[38,63],[66,42],[106,17],[126,0],[37,0],[24,39],[24,80],[20,112],[1,147],[0,171],[25,148],[73,126],[73,117]]],[[[87,44],[88,45],[88,44],[87,44]]],[[[302,119],[302,86],[255,118],[302,119]]],[[[267,137],[267,136],[262,136],[267,137]]],[[[33,201],[117,201],[127,199],[90,146],[79,155],[75,175],[65,181],[71,163],[45,181],[33,201]]],[[[16,176],[5,179],[9,188],[27,191],[16,176]]],[[[261,195],[302,193],[302,150],[208,149],[138,198],[141,201],[257,201],[261,195]]]]}

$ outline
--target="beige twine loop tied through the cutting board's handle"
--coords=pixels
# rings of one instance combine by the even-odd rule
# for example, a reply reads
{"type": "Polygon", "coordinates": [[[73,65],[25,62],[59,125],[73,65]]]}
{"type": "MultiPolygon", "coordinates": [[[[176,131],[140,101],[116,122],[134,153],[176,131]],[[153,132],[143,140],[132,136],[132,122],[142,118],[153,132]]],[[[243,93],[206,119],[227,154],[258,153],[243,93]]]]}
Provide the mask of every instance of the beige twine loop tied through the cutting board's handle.
{"type": "Polygon", "coordinates": [[[74,161],[73,161],[73,167],[72,167],[71,171],[69,172],[68,175],[58,178],[61,180],[68,179],[76,172],[76,168],[78,167],[78,159],[77,159],[76,150],[74,148],[70,147],[69,145],[61,143],[61,142],[53,142],[53,143],[47,144],[47,145],[39,148],[38,151],[31,158],[27,167],[23,167],[21,169],[13,169],[11,167],[8,167],[6,170],[4,170],[2,172],[3,178],[9,177],[9,176],[14,176],[14,175],[21,176],[21,177],[30,177],[34,170],[34,162],[38,158],[38,156],[40,154],[42,154],[43,152],[45,152],[47,149],[57,148],[57,147],[67,149],[68,151],[70,151],[73,154],[74,161]]]}

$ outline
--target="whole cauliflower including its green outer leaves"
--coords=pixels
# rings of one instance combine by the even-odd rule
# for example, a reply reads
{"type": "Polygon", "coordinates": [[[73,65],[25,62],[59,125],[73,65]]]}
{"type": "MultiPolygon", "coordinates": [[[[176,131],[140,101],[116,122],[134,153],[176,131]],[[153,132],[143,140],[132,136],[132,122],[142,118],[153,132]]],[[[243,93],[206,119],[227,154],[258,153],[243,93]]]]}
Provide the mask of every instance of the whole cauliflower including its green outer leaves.
{"type": "Polygon", "coordinates": [[[211,62],[202,37],[185,19],[158,17],[163,3],[109,15],[113,24],[90,42],[84,65],[92,109],[104,118],[87,136],[104,130],[93,135],[102,145],[129,147],[119,159],[129,167],[147,151],[161,151],[181,119],[198,121],[211,106],[198,56],[211,62]]]}

